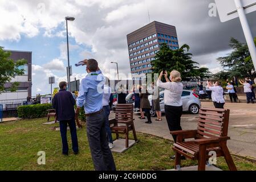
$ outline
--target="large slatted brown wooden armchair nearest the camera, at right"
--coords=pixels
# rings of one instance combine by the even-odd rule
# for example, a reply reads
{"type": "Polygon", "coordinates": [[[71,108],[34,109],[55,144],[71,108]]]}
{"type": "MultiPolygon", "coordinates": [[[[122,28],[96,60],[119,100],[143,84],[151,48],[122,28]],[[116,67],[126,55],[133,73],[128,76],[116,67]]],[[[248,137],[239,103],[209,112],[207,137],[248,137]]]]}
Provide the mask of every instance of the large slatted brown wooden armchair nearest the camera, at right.
{"type": "Polygon", "coordinates": [[[209,152],[215,151],[217,156],[224,156],[230,171],[237,171],[227,148],[227,130],[229,127],[230,110],[204,108],[200,110],[197,130],[172,131],[177,135],[173,150],[176,151],[175,168],[181,164],[181,155],[198,160],[198,171],[205,171],[209,152]],[[185,142],[185,139],[194,138],[185,142]]]}

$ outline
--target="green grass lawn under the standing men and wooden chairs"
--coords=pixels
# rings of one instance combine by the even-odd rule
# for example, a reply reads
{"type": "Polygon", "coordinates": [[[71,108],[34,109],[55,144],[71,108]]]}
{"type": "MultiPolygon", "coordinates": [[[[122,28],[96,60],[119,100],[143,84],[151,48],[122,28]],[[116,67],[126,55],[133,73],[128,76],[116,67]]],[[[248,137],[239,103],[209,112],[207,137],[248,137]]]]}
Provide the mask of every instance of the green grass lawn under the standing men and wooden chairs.
{"type": "MultiPolygon", "coordinates": [[[[0,170],[93,170],[86,128],[78,130],[80,154],[62,155],[59,131],[56,125],[43,125],[46,118],[6,122],[0,124],[0,170]],[[46,152],[46,165],[37,164],[38,151],[46,152]]],[[[68,133],[69,134],[69,133],[68,133]]],[[[138,133],[139,143],[124,154],[113,154],[118,170],[164,170],[174,168],[172,144],[169,140],[138,133]]],[[[68,140],[71,141],[70,135],[68,140]]],[[[69,142],[71,148],[71,142],[69,142]]],[[[238,170],[256,170],[256,164],[233,156],[238,170]]],[[[227,170],[223,158],[217,166],[227,170]]],[[[197,162],[182,161],[182,167],[197,162]]]]}

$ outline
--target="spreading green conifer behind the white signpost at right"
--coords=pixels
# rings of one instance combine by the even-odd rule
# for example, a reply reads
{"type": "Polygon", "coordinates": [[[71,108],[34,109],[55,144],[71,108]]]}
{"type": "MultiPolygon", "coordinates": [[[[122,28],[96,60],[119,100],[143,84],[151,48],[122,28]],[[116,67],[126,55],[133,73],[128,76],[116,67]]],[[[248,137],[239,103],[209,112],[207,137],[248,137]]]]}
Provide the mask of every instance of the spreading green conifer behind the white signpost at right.
{"type": "MultiPolygon", "coordinates": [[[[256,44],[256,38],[254,42],[256,44]]],[[[230,47],[233,48],[233,52],[225,57],[218,58],[218,61],[224,68],[224,72],[217,73],[215,76],[223,80],[233,77],[250,77],[251,80],[254,80],[256,73],[253,72],[254,65],[247,44],[240,43],[237,39],[231,38],[230,47]]]]}

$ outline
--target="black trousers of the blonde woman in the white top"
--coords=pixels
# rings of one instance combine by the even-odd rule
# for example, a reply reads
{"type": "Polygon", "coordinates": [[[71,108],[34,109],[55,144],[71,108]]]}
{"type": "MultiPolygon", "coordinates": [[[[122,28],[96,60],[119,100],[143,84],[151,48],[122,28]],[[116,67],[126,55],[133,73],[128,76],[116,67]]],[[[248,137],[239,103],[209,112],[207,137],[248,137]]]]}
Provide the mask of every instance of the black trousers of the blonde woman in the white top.
{"type": "MultiPolygon", "coordinates": [[[[165,110],[165,117],[168,123],[168,127],[170,131],[180,131],[182,130],[180,121],[181,121],[181,115],[182,115],[182,106],[176,107],[176,106],[164,106],[165,110]]],[[[174,142],[177,142],[177,136],[172,135],[174,142]]]]}

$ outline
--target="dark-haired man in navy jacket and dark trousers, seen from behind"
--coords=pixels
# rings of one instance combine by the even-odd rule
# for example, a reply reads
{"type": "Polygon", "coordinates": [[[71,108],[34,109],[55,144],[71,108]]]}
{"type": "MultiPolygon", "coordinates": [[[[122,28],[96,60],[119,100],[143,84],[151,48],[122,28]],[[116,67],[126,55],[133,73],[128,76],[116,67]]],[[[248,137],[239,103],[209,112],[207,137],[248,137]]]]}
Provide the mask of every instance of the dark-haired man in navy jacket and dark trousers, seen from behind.
{"type": "Polygon", "coordinates": [[[60,134],[62,136],[62,154],[68,155],[67,125],[70,127],[72,149],[74,154],[79,152],[78,136],[75,123],[75,100],[70,92],[66,91],[67,82],[59,83],[59,93],[55,94],[52,100],[52,107],[56,110],[56,117],[59,121],[60,134]]]}

